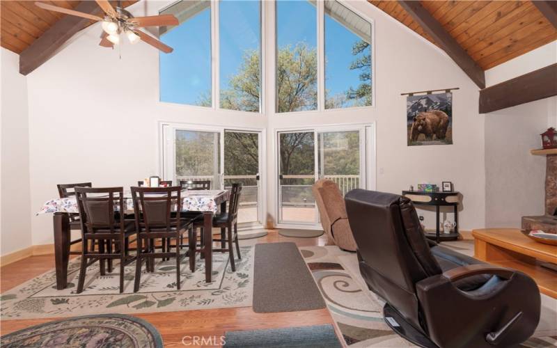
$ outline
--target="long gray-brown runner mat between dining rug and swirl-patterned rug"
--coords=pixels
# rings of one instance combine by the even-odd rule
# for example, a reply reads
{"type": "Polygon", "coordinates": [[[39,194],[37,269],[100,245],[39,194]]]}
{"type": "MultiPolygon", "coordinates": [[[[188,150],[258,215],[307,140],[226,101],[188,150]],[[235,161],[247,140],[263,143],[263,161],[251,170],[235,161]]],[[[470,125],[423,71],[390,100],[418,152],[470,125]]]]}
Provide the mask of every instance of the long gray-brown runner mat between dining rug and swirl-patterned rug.
{"type": "Polygon", "coordinates": [[[325,308],[321,292],[295,243],[257,244],[254,264],[254,312],[325,308]]]}

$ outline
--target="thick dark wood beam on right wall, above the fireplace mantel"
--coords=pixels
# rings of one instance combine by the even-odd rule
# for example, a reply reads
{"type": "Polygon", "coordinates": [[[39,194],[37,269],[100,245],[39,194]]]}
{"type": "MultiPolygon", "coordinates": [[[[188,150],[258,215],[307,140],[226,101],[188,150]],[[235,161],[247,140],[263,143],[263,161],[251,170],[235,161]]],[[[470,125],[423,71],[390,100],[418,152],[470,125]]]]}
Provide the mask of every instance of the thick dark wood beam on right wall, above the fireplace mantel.
{"type": "Polygon", "coordinates": [[[557,95],[557,63],[480,90],[480,113],[557,95]]]}

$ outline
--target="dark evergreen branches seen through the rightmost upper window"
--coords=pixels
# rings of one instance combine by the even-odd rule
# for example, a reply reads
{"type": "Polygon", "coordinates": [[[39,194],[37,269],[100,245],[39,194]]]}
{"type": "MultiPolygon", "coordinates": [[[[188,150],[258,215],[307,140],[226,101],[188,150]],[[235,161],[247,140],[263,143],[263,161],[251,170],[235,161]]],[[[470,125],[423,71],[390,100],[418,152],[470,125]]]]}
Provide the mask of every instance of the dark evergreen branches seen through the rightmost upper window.
{"type": "Polygon", "coordinates": [[[359,79],[360,86],[354,89],[350,87],[346,92],[347,100],[354,100],[354,106],[368,106],[371,105],[371,54],[370,44],[368,42],[359,40],[352,46],[352,54],[357,57],[351,64],[350,70],[361,70],[359,79]]]}

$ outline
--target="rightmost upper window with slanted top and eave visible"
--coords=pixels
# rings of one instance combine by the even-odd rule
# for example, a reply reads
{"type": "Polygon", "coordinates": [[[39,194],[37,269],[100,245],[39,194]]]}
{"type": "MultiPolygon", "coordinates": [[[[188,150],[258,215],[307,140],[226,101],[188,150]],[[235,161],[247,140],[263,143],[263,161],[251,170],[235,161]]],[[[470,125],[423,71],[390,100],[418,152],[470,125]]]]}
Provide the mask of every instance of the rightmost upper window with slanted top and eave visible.
{"type": "Polygon", "coordinates": [[[370,106],[371,24],[338,1],[325,8],[325,109],[370,106]]]}

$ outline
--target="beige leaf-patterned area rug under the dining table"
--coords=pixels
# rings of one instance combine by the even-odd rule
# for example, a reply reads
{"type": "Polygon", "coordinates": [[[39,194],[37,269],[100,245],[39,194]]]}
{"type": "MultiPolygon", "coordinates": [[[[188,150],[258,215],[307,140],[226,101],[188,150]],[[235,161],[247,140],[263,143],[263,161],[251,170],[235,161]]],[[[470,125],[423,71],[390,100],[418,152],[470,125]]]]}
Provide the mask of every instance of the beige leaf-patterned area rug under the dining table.
{"type": "Polygon", "coordinates": [[[100,275],[98,262],[87,269],[84,291],[76,293],[79,258],[68,266],[68,287],[56,290],[54,269],[0,296],[2,319],[74,317],[103,313],[152,313],[178,310],[249,307],[253,303],[253,246],[240,248],[236,271],[228,253],[213,254],[212,283],[205,283],[205,262],[196,260],[189,270],[187,258],[180,267],[181,290],[176,290],[175,260],[159,261],[155,272],[141,274],[141,286],[133,292],[135,263],[125,267],[124,292],[119,292],[119,266],[100,275]]]}

